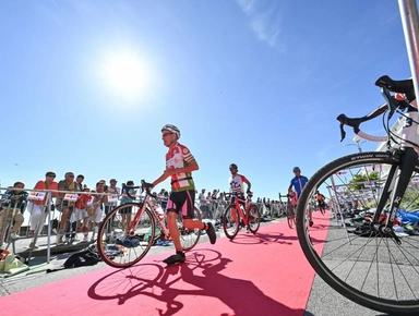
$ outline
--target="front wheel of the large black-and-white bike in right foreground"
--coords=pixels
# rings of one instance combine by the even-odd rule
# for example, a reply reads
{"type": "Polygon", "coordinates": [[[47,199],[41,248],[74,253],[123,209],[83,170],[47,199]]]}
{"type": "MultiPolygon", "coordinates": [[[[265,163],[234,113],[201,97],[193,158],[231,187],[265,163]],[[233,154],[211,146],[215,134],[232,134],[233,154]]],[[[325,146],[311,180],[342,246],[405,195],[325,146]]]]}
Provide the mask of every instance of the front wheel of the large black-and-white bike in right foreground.
{"type": "MultiPolygon", "coordinates": [[[[419,231],[395,221],[402,244],[371,226],[390,197],[398,160],[390,153],[361,153],[330,162],[307,183],[297,208],[302,251],[319,276],[337,292],[366,307],[390,314],[419,314],[419,231]],[[332,217],[313,212],[311,196],[328,191],[332,217]],[[380,198],[383,202],[380,204],[380,198]],[[359,212],[351,214],[357,200],[359,212]]],[[[418,167],[414,174],[418,175],[418,167]]],[[[417,184],[406,191],[402,208],[419,197],[417,184]]],[[[328,212],[326,211],[326,215],[328,212]]],[[[386,214],[380,216],[383,222],[386,214]]]]}

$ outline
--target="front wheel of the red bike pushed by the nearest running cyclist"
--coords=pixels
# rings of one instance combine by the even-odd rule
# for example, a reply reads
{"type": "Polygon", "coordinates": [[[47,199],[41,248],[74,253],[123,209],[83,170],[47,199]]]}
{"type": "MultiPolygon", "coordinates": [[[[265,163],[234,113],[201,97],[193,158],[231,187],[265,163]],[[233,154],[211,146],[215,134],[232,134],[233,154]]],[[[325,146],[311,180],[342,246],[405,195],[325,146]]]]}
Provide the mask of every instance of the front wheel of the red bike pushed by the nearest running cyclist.
{"type": "MultiPolygon", "coordinates": [[[[103,220],[97,234],[97,251],[107,265],[128,268],[139,263],[149,251],[156,234],[152,211],[144,209],[132,234],[127,233],[122,212],[131,210],[131,220],[142,208],[140,203],[127,203],[113,208],[103,220]]],[[[128,212],[129,214],[129,212],[128,212]]]]}

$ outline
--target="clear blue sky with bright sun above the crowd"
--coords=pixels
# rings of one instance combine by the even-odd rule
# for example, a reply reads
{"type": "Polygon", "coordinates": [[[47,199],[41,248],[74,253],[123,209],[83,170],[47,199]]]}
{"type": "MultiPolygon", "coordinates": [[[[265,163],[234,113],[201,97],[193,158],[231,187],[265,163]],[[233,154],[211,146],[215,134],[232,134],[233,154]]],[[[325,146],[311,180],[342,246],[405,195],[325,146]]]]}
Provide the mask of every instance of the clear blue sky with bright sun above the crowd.
{"type": "Polygon", "coordinates": [[[397,1],[4,0],[0,38],[2,186],[154,181],[171,123],[199,190],[228,191],[235,162],[277,198],[292,167],[357,150],[336,117],[382,105],[379,76],[410,76],[397,1]]]}

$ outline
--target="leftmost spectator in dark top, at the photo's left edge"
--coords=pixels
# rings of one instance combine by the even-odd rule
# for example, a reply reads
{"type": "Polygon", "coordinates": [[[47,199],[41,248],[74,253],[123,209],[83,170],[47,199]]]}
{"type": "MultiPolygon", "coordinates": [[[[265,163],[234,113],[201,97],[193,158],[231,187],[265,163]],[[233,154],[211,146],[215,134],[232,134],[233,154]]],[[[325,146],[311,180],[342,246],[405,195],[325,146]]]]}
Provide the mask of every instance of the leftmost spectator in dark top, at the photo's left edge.
{"type": "MultiPolygon", "coordinates": [[[[1,199],[0,210],[0,232],[5,232],[8,226],[3,227],[5,217],[13,218],[14,224],[10,231],[10,238],[15,240],[19,239],[17,231],[24,221],[23,211],[26,207],[27,192],[23,191],[25,184],[17,181],[13,184],[13,187],[5,192],[1,199]],[[4,230],[3,230],[4,229],[4,230]]],[[[3,243],[3,233],[0,234],[0,245],[3,243]]]]}

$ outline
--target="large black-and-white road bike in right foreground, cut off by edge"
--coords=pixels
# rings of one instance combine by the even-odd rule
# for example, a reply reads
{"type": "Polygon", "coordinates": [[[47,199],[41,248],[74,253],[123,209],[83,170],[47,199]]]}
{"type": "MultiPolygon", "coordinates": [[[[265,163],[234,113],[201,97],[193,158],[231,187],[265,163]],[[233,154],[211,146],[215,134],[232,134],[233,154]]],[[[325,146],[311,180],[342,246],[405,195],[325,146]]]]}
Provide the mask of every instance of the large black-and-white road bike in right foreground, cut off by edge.
{"type": "MultiPolygon", "coordinates": [[[[411,80],[382,76],[385,104],[362,118],[338,116],[362,138],[386,142],[387,151],[368,151],[338,158],[321,168],[307,183],[297,206],[297,232],[302,251],[318,275],[333,289],[358,304],[390,314],[419,315],[419,230],[400,221],[419,200],[418,110],[411,80]],[[403,94],[406,99],[397,95],[403,94]],[[397,97],[397,98],[396,98],[397,97]],[[390,127],[394,113],[402,118],[402,136],[390,127]],[[387,136],[376,137],[360,124],[383,114],[387,136]],[[309,227],[307,209],[313,194],[328,192],[336,220],[316,219],[309,227]],[[366,209],[354,221],[345,219],[346,204],[357,200],[366,209]],[[368,214],[368,216],[367,216],[368,214]],[[322,231],[326,229],[325,236],[322,231]]],[[[314,215],[313,215],[314,216],[314,215]]]]}

